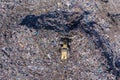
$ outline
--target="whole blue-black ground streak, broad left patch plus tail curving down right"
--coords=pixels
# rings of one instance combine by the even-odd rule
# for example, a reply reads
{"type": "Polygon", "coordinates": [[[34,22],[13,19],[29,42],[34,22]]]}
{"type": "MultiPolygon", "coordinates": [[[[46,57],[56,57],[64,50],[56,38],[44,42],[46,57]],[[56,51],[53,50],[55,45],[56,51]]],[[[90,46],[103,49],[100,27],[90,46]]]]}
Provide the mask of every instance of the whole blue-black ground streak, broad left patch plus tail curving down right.
{"type": "MultiPolygon", "coordinates": [[[[107,0],[104,0],[107,2],[107,0]]],[[[20,25],[26,25],[28,28],[34,29],[46,29],[54,30],[55,32],[68,33],[71,30],[80,29],[86,35],[89,35],[90,38],[93,38],[93,42],[96,45],[96,48],[102,52],[102,55],[107,59],[109,65],[108,71],[112,72],[116,76],[120,76],[120,62],[116,60],[115,66],[113,63],[114,52],[110,47],[109,40],[105,39],[100,35],[99,32],[95,30],[95,25],[99,26],[95,21],[85,22],[84,17],[91,14],[88,11],[80,13],[70,13],[65,11],[54,11],[46,14],[41,14],[40,16],[28,15],[26,16],[20,25]]],[[[108,16],[111,16],[108,14],[108,16]]],[[[113,15],[112,15],[113,16],[113,15]]],[[[69,42],[68,38],[62,38],[66,42],[69,42]]]]}

